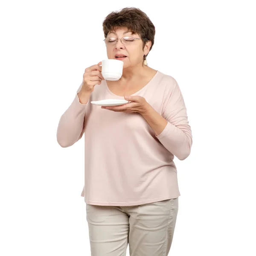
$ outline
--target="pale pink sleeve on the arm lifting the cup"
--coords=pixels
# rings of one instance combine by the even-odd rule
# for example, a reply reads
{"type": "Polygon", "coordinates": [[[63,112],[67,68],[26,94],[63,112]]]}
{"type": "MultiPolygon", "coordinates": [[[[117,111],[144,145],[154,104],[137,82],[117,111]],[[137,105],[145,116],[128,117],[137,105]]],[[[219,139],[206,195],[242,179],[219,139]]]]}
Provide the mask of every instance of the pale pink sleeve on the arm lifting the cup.
{"type": "Polygon", "coordinates": [[[76,92],[75,99],[67,108],[67,110],[62,114],[57,129],[57,141],[58,144],[63,148],[67,148],[78,140],[84,134],[85,128],[85,113],[87,111],[89,103],[81,104],[79,102],[79,93],[82,84],[76,92]]]}

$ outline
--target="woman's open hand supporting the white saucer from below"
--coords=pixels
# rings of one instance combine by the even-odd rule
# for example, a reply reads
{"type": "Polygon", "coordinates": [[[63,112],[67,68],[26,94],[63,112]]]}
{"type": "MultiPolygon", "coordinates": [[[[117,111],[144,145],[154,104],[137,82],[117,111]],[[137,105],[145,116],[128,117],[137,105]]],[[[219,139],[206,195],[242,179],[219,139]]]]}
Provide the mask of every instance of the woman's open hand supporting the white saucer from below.
{"type": "Polygon", "coordinates": [[[149,104],[145,98],[141,96],[125,96],[125,99],[130,101],[124,105],[114,106],[114,107],[103,107],[105,109],[115,111],[115,112],[124,112],[124,113],[140,113],[144,114],[148,111],[149,104]]]}

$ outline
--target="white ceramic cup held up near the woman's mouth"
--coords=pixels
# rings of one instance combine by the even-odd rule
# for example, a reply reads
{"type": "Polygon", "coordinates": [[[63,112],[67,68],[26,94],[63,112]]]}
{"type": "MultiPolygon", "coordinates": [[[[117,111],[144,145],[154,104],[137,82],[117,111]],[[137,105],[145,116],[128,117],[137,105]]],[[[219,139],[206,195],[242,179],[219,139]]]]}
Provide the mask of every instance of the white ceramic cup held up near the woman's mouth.
{"type": "Polygon", "coordinates": [[[122,76],[124,63],[119,60],[107,59],[102,61],[102,76],[105,80],[116,81],[122,76]]]}

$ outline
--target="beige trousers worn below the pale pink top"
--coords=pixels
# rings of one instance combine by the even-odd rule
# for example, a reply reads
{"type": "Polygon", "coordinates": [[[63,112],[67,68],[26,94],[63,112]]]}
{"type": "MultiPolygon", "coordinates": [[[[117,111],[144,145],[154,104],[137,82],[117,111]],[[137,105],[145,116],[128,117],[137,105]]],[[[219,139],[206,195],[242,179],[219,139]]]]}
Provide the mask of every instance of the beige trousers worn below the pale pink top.
{"type": "Polygon", "coordinates": [[[91,256],[167,256],[178,198],[137,206],[86,205],[91,256]]]}

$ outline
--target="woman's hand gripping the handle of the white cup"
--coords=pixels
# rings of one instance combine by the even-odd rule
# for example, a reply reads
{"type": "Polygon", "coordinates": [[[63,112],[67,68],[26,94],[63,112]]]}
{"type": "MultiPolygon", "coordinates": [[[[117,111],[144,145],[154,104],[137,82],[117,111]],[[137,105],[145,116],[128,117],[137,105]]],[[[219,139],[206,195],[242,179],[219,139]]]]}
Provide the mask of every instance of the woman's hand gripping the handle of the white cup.
{"type": "Polygon", "coordinates": [[[96,84],[101,84],[102,80],[105,80],[102,76],[102,67],[99,66],[102,62],[97,65],[87,67],[84,70],[83,85],[81,91],[84,93],[92,93],[96,84]]]}

